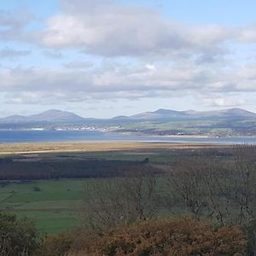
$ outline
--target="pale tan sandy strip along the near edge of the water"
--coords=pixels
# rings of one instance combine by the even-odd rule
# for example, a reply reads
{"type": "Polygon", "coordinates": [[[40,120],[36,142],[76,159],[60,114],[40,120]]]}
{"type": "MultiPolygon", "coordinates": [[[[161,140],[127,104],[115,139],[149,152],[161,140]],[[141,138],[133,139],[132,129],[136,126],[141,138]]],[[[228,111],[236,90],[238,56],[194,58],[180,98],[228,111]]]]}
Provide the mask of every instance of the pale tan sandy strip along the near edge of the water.
{"type": "Polygon", "coordinates": [[[205,143],[136,143],[136,142],[65,142],[65,143],[3,143],[0,154],[73,153],[136,149],[223,148],[228,145],[205,143]]]}

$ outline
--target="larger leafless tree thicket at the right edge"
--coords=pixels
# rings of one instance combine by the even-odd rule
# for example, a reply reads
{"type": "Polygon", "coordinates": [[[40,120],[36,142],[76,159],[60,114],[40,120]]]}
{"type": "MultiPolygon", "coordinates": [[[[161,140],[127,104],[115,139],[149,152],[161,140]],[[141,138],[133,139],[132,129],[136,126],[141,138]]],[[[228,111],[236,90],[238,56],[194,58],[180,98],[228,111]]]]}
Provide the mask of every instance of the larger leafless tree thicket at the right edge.
{"type": "Polygon", "coordinates": [[[234,146],[232,157],[201,154],[180,160],[167,175],[177,204],[195,218],[247,224],[256,210],[256,147],[234,146]]]}

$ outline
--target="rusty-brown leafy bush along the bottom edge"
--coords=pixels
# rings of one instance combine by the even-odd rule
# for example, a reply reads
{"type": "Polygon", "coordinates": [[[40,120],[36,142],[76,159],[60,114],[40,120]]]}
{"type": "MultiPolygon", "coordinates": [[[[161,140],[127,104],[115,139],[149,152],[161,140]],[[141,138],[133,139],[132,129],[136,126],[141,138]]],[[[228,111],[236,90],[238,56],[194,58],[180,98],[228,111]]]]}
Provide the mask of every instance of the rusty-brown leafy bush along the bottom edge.
{"type": "Polygon", "coordinates": [[[87,237],[68,255],[244,255],[246,237],[236,227],[214,229],[192,219],[148,221],[87,237]]]}

